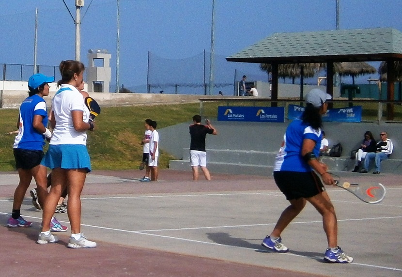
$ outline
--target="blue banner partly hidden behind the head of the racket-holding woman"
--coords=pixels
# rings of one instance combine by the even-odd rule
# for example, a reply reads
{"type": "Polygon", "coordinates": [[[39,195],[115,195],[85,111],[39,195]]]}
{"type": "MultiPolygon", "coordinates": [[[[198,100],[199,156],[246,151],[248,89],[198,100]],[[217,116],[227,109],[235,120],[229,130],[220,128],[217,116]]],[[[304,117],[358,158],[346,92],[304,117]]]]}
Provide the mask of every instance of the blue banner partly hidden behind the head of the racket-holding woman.
{"type": "MultiPolygon", "coordinates": [[[[288,119],[292,120],[302,115],[304,107],[297,105],[288,106],[288,119]]],[[[323,115],[326,122],[361,122],[361,106],[346,108],[331,108],[323,115]]]]}

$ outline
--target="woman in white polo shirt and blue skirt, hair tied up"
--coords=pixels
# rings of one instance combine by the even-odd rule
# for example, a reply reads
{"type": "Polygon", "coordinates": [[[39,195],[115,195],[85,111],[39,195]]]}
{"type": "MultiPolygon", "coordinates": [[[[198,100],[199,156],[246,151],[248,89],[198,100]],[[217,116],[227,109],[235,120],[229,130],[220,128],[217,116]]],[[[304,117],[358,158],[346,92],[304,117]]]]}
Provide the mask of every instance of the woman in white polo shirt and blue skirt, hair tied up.
{"type": "Polygon", "coordinates": [[[84,64],[78,61],[62,61],[59,66],[62,79],[52,100],[51,127],[53,136],[42,160],[52,169],[52,186],[43,207],[43,227],[38,244],[54,243],[58,238],[49,231],[49,223],[63,189],[68,188],[67,215],[71,225],[69,248],[93,248],[96,243],[81,234],[81,191],[91,160],[87,150],[86,131],[93,131],[89,122],[89,110],[77,87],[82,83],[84,64]]]}

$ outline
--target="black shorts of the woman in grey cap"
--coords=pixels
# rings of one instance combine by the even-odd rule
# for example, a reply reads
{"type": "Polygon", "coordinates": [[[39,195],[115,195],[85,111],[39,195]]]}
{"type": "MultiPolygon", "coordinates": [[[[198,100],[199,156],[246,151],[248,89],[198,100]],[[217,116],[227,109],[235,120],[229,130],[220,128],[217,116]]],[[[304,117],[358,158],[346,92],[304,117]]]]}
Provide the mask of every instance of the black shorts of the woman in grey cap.
{"type": "Polygon", "coordinates": [[[274,171],[274,179],[286,200],[310,198],[325,191],[321,179],[314,171],[274,171]]]}

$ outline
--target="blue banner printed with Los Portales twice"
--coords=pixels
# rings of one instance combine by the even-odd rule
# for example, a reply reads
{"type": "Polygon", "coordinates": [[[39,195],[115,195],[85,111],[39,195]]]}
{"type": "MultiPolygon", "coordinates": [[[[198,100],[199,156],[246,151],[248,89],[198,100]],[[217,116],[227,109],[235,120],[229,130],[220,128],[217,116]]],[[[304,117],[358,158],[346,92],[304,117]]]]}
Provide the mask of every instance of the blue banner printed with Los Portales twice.
{"type": "Polygon", "coordinates": [[[219,106],[218,121],[285,122],[285,108],[219,106]]]}

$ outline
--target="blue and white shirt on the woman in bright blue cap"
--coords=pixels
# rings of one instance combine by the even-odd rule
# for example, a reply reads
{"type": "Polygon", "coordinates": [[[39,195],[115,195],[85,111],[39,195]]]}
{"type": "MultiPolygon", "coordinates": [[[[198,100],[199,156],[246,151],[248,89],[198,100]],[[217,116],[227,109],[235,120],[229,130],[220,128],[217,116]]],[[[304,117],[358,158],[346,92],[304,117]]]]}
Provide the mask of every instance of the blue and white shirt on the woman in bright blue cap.
{"type": "Polygon", "coordinates": [[[37,94],[25,98],[19,107],[19,130],[15,136],[14,148],[43,150],[45,136],[38,133],[32,125],[35,115],[41,115],[43,125],[47,125],[46,102],[37,94]]]}

